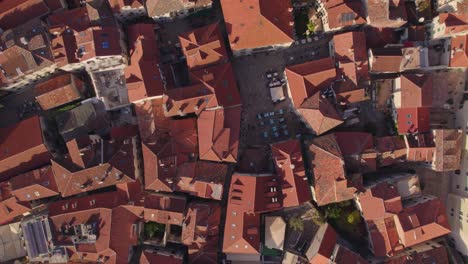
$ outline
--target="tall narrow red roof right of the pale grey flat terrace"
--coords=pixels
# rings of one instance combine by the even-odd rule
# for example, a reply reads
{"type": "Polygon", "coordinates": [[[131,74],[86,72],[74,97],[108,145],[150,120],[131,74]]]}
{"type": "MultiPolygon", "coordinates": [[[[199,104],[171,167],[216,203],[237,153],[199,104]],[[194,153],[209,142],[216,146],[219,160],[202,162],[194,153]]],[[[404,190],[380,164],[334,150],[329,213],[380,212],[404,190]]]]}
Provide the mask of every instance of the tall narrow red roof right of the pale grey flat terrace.
{"type": "Polygon", "coordinates": [[[154,26],[133,24],[127,28],[130,60],[125,68],[125,80],[130,102],[159,96],[164,92],[154,26]]]}

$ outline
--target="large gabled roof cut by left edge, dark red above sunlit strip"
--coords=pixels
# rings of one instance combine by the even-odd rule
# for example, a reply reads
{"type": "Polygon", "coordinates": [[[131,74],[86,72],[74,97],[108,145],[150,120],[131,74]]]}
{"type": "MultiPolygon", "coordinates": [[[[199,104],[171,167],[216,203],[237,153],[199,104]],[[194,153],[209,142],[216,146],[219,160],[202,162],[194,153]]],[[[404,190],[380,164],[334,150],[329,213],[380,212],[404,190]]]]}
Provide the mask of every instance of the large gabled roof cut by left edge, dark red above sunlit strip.
{"type": "Polygon", "coordinates": [[[38,116],[0,128],[0,178],[6,179],[49,163],[38,116]]]}

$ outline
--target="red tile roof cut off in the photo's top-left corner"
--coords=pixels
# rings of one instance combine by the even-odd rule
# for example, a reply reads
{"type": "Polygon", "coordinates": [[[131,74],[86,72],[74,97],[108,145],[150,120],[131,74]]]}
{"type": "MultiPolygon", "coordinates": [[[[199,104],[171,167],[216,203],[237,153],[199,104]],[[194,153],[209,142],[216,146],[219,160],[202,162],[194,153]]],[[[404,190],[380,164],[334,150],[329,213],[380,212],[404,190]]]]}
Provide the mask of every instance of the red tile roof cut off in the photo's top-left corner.
{"type": "Polygon", "coordinates": [[[14,28],[28,20],[50,12],[43,0],[2,1],[0,3],[0,28],[14,28]]]}

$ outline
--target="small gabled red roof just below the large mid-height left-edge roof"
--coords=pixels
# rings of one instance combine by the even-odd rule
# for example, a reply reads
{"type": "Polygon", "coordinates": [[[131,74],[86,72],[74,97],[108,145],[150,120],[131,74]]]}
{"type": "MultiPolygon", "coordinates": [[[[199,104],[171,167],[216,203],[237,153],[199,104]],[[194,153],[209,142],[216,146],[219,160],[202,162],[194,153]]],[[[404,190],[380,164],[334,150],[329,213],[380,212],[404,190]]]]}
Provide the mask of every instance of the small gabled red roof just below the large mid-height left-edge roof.
{"type": "Polygon", "coordinates": [[[50,166],[32,170],[10,179],[11,194],[26,202],[58,195],[57,184],[50,166]]]}

